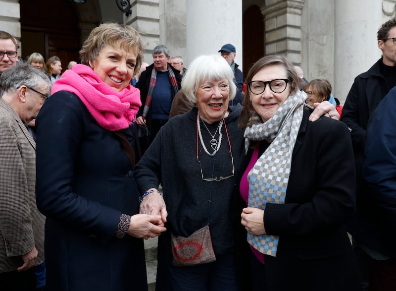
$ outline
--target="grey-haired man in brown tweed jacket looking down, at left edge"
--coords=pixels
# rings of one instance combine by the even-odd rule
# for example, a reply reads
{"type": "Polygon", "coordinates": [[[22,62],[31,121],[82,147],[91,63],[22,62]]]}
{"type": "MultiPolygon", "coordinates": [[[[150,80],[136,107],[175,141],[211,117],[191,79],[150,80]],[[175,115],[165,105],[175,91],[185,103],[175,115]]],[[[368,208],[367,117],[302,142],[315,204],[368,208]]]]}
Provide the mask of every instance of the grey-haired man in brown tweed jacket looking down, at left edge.
{"type": "Polygon", "coordinates": [[[36,143],[23,123],[36,118],[51,83],[21,63],[2,73],[0,84],[0,289],[35,290],[45,217],[36,207],[36,143]]]}

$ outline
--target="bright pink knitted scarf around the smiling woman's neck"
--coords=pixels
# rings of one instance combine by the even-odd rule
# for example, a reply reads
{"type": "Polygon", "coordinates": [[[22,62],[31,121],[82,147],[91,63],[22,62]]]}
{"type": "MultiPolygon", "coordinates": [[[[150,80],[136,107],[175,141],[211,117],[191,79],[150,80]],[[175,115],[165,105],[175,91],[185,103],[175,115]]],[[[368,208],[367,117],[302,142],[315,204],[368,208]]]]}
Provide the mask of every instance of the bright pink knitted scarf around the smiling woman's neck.
{"type": "Polygon", "coordinates": [[[139,89],[128,84],[117,92],[83,64],[74,65],[56,80],[52,94],[58,91],[76,94],[99,125],[110,131],[127,128],[135,120],[142,105],[139,89]]]}

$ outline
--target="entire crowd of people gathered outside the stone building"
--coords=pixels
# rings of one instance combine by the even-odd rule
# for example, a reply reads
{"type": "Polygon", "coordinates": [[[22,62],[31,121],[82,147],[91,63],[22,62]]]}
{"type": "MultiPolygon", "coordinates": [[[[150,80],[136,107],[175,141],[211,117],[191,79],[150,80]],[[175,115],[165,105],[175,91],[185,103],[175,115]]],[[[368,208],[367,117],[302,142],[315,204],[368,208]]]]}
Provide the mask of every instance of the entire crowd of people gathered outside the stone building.
{"type": "Polygon", "coordinates": [[[157,291],[394,290],[396,18],[377,40],[342,107],[286,57],[244,79],[232,44],[148,64],[102,23],[62,73],[0,31],[2,286],[145,291],[159,236],[157,291]]]}

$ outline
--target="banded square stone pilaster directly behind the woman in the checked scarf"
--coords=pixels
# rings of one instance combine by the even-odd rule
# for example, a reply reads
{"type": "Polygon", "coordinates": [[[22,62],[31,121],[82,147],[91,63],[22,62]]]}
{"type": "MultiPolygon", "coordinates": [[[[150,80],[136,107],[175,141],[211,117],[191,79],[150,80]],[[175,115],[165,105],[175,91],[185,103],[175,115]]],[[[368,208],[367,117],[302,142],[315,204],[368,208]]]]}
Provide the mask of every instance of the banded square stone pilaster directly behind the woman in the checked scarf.
{"type": "Polygon", "coordinates": [[[279,54],[301,62],[302,0],[267,1],[261,9],[265,19],[265,54],[279,54]]]}

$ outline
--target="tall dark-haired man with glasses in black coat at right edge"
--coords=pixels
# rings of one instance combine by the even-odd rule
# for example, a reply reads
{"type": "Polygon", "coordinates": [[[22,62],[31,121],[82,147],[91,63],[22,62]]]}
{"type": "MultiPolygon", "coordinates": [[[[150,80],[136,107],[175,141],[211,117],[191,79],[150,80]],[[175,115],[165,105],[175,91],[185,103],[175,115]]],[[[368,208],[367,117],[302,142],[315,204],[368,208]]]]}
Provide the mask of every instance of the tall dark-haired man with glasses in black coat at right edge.
{"type": "MultiPolygon", "coordinates": [[[[377,32],[377,43],[382,57],[367,72],[355,78],[341,117],[341,121],[351,129],[355,156],[356,213],[349,223],[348,231],[352,234],[353,247],[361,265],[364,290],[368,290],[369,284],[370,290],[377,290],[372,289],[374,282],[381,282],[384,286],[393,284],[394,279],[384,276],[386,272],[378,266],[388,266],[391,268],[389,273],[396,271],[396,256],[391,255],[396,254],[396,239],[391,240],[389,229],[384,229],[378,221],[379,214],[372,199],[374,192],[361,175],[369,119],[385,95],[396,85],[396,18],[382,24],[377,32]]],[[[391,289],[394,290],[395,285],[391,289]]]]}

